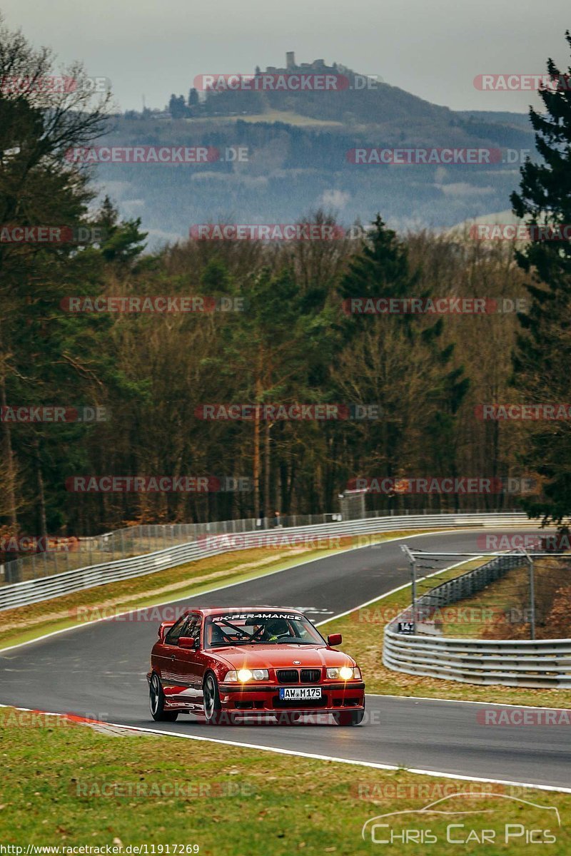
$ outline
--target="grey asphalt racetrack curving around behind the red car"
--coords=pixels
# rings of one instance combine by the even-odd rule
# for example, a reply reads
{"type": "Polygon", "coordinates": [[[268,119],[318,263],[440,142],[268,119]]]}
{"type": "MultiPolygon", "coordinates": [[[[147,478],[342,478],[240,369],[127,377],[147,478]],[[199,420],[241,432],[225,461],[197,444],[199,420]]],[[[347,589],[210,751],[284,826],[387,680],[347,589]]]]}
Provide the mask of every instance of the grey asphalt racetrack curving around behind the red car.
{"type": "MultiPolygon", "coordinates": [[[[524,531],[532,532],[512,530],[514,534],[524,531]]],[[[483,532],[495,530],[438,532],[350,550],[173,602],[163,609],[172,611],[182,604],[271,604],[303,609],[319,623],[407,583],[409,570],[401,544],[424,550],[477,552],[477,538],[483,532]]],[[[457,561],[451,559],[449,564],[457,561]]],[[[101,591],[104,600],[103,587],[101,591]]],[[[159,609],[152,610],[150,620],[146,620],[146,610],[140,610],[127,618],[86,624],[0,651],[0,703],[331,758],[503,782],[571,786],[568,728],[485,725],[477,719],[481,704],[368,695],[366,721],[357,728],[315,723],[211,727],[193,716],[155,723],[149,712],[146,671],[157,638],[159,609]]],[[[380,634],[378,644],[382,645],[380,634]]]]}

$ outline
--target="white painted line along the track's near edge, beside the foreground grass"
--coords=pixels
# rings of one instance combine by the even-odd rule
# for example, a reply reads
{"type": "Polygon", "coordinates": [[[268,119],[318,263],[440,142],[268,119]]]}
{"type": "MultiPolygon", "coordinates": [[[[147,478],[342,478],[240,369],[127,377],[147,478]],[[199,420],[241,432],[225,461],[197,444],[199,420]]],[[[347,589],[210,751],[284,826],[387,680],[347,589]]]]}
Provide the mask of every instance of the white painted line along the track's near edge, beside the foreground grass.
{"type": "MultiPolygon", "coordinates": [[[[9,704],[0,704],[0,707],[10,707],[9,704]]],[[[32,710],[27,707],[17,707],[15,710],[32,710]]],[[[44,713],[45,711],[40,711],[44,713]]],[[[53,716],[66,716],[64,713],[56,713],[53,716]]],[[[79,723],[81,724],[81,723],[79,723]]],[[[357,761],[352,758],[338,758],[336,755],[320,755],[317,752],[297,752],[294,749],[281,749],[277,746],[263,746],[259,743],[241,743],[239,740],[223,740],[219,737],[201,737],[199,734],[181,734],[178,731],[161,731],[155,728],[142,728],[137,725],[122,725],[119,722],[106,722],[114,728],[124,728],[127,731],[138,731],[140,734],[160,735],[161,737],[177,737],[181,740],[198,740],[204,743],[222,743],[224,746],[235,746],[239,749],[258,749],[260,752],[274,752],[277,755],[293,755],[295,758],[312,758],[317,761],[332,761],[335,764],[351,764],[355,767],[372,767],[374,770],[406,770],[416,776],[435,776],[443,779],[457,779],[460,782],[489,782],[497,785],[510,785],[518,788],[536,788],[540,791],[556,791],[560,794],[571,794],[571,788],[563,788],[557,785],[540,785],[536,782],[517,782],[509,779],[492,779],[483,776],[464,776],[461,773],[443,773],[441,770],[423,770],[417,767],[403,767],[401,764],[382,764],[378,761],[357,761]]],[[[206,726],[205,728],[216,728],[206,726]]],[[[333,728],[333,726],[331,726],[333,728]]]]}

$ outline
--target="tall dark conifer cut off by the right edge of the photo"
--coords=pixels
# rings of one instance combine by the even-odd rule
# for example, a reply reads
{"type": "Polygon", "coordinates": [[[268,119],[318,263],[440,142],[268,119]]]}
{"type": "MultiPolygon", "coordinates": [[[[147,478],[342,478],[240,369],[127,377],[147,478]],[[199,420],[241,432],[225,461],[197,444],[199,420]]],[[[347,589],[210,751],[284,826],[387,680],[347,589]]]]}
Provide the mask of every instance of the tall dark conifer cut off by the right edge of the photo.
{"type": "MultiPolygon", "coordinates": [[[[565,33],[571,49],[571,34],[565,33]]],[[[520,193],[511,201],[517,217],[532,227],[554,229],[571,223],[571,68],[562,74],[553,60],[547,70],[558,85],[539,94],[545,112],[530,108],[536,147],[543,163],[527,158],[520,169],[520,193]]],[[[531,229],[531,241],[516,253],[518,264],[532,278],[530,305],[520,313],[520,334],[514,352],[514,385],[526,403],[571,401],[571,246],[544,240],[531,229]]],[[[571,514],[571,431],[569,423],[538,421],[529,425],[522,462],[538,473],[543,492],[526,501],[533,517],[561,523],[571,514]]]]}

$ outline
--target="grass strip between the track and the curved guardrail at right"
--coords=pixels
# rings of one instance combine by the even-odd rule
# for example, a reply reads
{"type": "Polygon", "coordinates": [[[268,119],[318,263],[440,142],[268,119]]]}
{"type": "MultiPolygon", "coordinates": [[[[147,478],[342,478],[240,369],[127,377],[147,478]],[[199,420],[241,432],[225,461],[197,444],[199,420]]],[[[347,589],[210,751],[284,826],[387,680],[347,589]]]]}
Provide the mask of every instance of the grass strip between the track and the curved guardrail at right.
{"type": "MultiPolygon", "coordinates": [[[[438,575],[437,579],[438,581],[447,580],[451,576],[465,574],[472,567],[475,567],[472,562],[463,564],[453,571],[444,571],[443,574],[438,575]]],[[[424,591],[424,586],[419,589],[419,594],[422,591],[424,591]]],[[[343,634],[343,650],[351,654],[360,664],[365,677],[367,693],[450,698],[500,704],[532,704],[558,708],[571,707],[571,690],[526,689],[525,687],[503,687],[501,685],[479,687],[475,684],[444,681],[422,675],[406,675],[402,672],[386,669],[383,665],[384,627],[395,618],[397,612],[410,605],[410,597],[410,586],[407,586],[388,597],[380,597],[378,601],[371,603],[364,609],[356,609],[349,615],[345,615],[337,621],[327,621],[320,627],[322,633],[343,634]]],[[[497,596],[494,596],[494,603],[497,603],[497,600],[497,596]]],[[[461,601],[452,605],[460,608],[466,603],[467,601],[461,601]]],[[[454,635],[451,630],[452,627],[448,626],[444,632],[446,635],[454,635]]]]}

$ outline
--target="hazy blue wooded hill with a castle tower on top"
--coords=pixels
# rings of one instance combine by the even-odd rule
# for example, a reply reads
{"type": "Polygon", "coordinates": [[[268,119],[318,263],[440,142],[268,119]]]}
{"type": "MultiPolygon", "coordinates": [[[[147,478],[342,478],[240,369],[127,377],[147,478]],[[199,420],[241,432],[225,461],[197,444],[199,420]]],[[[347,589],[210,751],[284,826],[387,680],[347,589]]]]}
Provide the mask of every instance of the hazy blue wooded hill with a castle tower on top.
{"type": "Polygon", "coordinates": [[[396,229],[450,228],[505,209],[519,183],[514,152],[534,150],[526,116],[455,112],[384,83],[359,92],[217,92],[190,113],[171,119],[130,112],[101,141],[247,148],[243,162],[98,165],[102,191],[122,214],[141,217],[153,244],[187,237],[193,223],[290,223],[319,207],[346,226],[380,211],[396,229]],[[493,148],[512,155],[487,165],[357,165],[348,159],[355,147],[493,148]]]}

